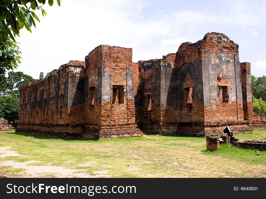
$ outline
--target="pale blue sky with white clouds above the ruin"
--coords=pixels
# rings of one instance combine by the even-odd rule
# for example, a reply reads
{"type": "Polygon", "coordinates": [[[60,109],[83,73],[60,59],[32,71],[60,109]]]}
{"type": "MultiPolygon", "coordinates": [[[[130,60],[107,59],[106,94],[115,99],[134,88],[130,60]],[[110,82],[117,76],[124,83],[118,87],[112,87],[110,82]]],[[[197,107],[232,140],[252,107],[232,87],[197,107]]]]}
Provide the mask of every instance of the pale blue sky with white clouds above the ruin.
{"type": "Polygon", "coordinates": [[[44,5],[47,16],[32,34],[17,38],[23,71],[40,72],[82,60],[101,44],[133,48],[133,62],[175,53],[183,42],[196,42],[220,32],[239,44],[240,62],[251,74],[266,75],[266,1],[61,0],[44,5]]]}

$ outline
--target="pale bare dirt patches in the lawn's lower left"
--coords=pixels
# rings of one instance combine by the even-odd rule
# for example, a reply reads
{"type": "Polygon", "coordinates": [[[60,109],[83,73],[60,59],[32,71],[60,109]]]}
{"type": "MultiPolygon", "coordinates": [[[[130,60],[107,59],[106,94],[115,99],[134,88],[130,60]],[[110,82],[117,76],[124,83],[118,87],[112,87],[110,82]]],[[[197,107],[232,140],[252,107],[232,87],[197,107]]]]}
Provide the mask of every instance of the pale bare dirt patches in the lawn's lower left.
{"type": "MultiPolygon", "coordinates": [[[[0,147],[0,157],[8,156],[21,156],[15,151],[8,150],[10,147],[0,147]]],[[[22,172],[18,172],[17,175],[21,175],[25,178],[40,178],[42,176],[55,176],[57,178],[97,178],[97,177],[109,177],[106,175],[107,171],[93,171],[92,173],[86,173],[84,170],[79,169],[67,169],[62,166],[50,166],[50,165],[30,165],[31,163],[38,161],[28,162],[15,162],[13,160],[1,161],[0,166],[12,166],[14,169],[24,169],[22,172]]],[[[89,165],[92,162],[88,162],[89,165]]],[[[5,176],[2,176],[5,177],[5,176]]]]}

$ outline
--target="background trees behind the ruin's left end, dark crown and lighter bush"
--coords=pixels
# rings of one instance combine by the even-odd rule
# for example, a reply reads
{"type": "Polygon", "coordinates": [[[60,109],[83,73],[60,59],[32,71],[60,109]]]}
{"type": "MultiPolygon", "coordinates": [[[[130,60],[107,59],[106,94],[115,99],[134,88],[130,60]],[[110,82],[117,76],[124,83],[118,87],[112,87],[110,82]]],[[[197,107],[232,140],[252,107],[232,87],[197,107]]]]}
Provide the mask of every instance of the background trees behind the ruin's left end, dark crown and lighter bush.
{"type": "Polygon", "coordinates": [[[23,72],[8,72],[8,78],[4,77],[0,84],[0,117],[9,122],[17,123],[19,114],[19,91],[20,87],[28,82],[36,81],[23,72]]]}

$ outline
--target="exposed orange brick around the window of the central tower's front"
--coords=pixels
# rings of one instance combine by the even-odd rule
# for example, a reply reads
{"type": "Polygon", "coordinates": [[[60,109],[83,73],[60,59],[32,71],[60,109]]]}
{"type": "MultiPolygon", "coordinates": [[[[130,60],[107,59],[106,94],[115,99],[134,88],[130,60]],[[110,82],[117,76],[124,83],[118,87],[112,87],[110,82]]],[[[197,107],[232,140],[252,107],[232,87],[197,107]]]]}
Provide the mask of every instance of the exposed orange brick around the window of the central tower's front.
{"type": "Polygon", "coordinates": [[[112,74],[110,85],[111,96],[114,96],[114,85],[121,85],[124,89],[122,93],[124,103],[119,104],[118,101],[116,101],[114,104],[110,102],[102,104],[102,124],[135,123],[134,99],[128,100],[126,98],[126,68],[132,68],[132,48],[103,45],[102,56],[106,57],[106,68],[112,74]]]}

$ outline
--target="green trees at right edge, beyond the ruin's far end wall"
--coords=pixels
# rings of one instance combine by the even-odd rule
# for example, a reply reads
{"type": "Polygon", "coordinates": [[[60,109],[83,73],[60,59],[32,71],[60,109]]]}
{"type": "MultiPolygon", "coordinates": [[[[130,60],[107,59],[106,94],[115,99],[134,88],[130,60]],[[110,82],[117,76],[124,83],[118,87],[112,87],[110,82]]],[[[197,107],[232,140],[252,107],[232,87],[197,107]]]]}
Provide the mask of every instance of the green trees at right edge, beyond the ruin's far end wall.
{"type": "Polygon", "coordinates": [[[262,98],[266,96],[266,76],[255,77],[251,75],[251,88],[254,98],[262,98]]]}

